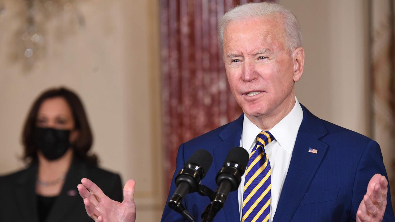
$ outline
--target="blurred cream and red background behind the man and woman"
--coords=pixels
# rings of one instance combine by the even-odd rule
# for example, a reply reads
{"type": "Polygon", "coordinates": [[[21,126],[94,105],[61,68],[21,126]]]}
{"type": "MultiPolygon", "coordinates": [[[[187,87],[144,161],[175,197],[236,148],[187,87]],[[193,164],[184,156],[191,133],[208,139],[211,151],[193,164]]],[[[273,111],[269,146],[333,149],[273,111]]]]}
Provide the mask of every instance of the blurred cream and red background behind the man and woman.
{"type": "MultiPolygon", "coordinates": [[[[0,175],[24,167],[33,100],[66,86],[85,104],[100,166],[137,182],[137,221],[160,220],[178,146],[241,114],[216,28],[246,2],[0,0],[0,175]]],[[[299,102],[378,141],[394,188],[395,1],[276,2],[303,32],[299,102]]]]}

